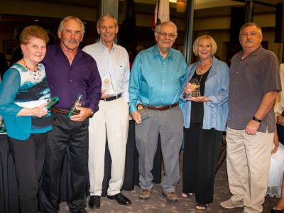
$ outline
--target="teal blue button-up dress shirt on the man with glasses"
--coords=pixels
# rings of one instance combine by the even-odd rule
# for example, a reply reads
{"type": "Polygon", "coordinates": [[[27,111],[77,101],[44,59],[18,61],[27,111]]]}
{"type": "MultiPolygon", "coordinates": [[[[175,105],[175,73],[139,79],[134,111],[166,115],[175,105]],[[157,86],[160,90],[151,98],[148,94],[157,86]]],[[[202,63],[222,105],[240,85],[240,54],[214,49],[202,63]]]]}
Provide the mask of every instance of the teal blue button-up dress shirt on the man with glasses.
{"type": "Polygon", "coordinates": [[[157,45],[136,56],[129,80],[129,111],[136,104],[163,106],[180,101],[180,92],[186,77],[186,63],[182,53],[168,50],[163,59],[157,45]]]}

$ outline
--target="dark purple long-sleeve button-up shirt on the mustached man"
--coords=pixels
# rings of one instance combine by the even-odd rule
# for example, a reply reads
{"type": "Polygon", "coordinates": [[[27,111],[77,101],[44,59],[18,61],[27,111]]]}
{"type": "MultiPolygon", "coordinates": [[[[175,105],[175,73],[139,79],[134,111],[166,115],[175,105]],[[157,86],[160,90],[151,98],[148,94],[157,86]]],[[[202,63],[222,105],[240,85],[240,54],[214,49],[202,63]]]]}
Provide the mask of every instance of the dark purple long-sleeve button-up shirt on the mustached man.
{"type": "Polygon", "coordinates": [[[78,48],[72,65],[60,45],[48,46],[43,60],[51,97],[59,97],[55,107],[70,110],[77,94],[82,94],[83,107],[97,111],[102,80],[96,61],[78,48]]]}

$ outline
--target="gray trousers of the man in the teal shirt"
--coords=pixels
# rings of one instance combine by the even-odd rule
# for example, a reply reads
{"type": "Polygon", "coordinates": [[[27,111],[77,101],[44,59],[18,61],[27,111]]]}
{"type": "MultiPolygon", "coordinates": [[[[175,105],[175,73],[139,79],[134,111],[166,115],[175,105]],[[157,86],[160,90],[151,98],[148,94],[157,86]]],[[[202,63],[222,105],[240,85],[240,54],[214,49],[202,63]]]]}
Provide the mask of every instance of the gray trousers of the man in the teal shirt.
{"type": "Polygon", "coordinates": [[[158,136],[163,155],[165,176],[161,187],[175,192],[180,180],[179,153],[182,145],[183,117],[180,107],[165,111],[149,110],[150,119],[136,124],[136,146],[139,153],[139,185],[141,189],[153,187],[153,161],[157,150],[158,136]]]}

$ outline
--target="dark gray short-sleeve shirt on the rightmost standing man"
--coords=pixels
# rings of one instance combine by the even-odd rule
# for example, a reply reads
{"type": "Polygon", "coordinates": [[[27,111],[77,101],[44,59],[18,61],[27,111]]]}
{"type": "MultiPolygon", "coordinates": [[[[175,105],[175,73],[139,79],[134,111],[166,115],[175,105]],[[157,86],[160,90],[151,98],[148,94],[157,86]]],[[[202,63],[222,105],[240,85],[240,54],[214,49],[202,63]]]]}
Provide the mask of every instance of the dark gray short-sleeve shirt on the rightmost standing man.
{"type": "MultiPolygon", "coordinates": [[[[231,60],[229,71],[229,116],[227,126],[246,129],[261,104],[264,94],[281,90],[280,65],[276,55],[261,46],[246,58],[243,51],[231,60]]],[[[258,128],[260,132],[273,133],[275,116],[271,109],[258,128]]]]}

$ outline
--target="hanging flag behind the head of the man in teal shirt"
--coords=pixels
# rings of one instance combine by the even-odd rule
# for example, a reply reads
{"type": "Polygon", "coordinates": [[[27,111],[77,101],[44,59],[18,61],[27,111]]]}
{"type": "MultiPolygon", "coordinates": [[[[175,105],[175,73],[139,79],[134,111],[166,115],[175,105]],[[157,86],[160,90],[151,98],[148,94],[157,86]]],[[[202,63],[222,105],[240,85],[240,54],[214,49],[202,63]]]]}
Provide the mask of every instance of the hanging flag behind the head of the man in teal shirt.
{"type": "Polygon", "coordinates": [[[153,16],[152,28],[164,22],[170,21],[170,4],[169,0],[157,0],[153,16]]]}

